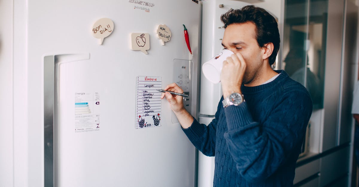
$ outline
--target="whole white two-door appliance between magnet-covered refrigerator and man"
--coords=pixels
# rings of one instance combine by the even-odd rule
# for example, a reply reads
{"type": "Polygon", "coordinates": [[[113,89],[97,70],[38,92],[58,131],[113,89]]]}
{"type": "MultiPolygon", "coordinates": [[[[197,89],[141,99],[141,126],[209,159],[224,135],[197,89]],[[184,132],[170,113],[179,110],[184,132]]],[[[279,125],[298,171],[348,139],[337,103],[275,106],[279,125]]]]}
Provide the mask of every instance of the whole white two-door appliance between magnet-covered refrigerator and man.
{"type": "MultiPolygon", "coordinates": [[[[220,16],[230,9],[240,9],[250,5],[233,0],[204,0],[202,1],[202,45],[201,65],[218,54],[222,49],[224,34],[223,23],[220,16]]],[[[222,97],[220,83],[213,84],[201,73],[200,117],[199,122],[209,124],[217,111],[222,97]]],[[[213,186],[214,157],[208,157],[201,152],[198,154],[198,186],[213,186]]]]}

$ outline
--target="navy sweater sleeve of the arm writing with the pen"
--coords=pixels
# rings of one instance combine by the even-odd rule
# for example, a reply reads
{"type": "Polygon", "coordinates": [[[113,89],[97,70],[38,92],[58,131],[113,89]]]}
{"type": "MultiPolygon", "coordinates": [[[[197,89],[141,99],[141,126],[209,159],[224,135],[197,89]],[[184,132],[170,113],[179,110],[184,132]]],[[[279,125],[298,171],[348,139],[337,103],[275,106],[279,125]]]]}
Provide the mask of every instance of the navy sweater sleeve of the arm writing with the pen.
{"type": "Polygon", "coordinates": [[[222,100],[218,103],[215,118],[207,126],[200,124],[196,119],[193,120],[191,126],[187,129],[183,129],[183,132],[187,135],[192,144],[200,150],[204,155],[213,157],[216,147],[216,126],[218,123],[219,114],[222,107],[222,100]]]}

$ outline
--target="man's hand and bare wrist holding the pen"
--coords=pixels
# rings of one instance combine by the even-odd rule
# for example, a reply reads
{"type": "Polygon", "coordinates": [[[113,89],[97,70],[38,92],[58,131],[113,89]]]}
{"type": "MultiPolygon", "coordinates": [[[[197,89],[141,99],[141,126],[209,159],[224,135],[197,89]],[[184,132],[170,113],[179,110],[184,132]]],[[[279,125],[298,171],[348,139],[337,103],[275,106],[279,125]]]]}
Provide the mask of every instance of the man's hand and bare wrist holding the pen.
{"type": "MultiPolygon", "coordinates": [[[[167,85],[163,90],[183,93],[183,90],[176,83],[167,85]]],[[[193,116],[185,109],[185,106],[183,105],[183,97],[179,95],[172,95],[169,92],[162,93],[161,99],[164,97],[166,97],[172,111],[176,114],[182,128],[187,129],[190,127],[193,123],[193,116]]]]}

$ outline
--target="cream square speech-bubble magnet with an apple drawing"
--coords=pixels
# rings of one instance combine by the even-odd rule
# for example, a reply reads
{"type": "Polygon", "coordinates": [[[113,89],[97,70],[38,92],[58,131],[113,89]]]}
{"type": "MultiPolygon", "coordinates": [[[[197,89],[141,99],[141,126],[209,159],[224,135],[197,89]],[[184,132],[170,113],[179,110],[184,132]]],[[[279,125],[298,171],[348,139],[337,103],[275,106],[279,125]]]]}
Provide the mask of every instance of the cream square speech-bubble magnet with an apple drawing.
{"type": "Polygon", "coordinates": [[[150,34],[131,33],[131,50],[142,51],[148,54],[146,50],[150,49],[150,34]]]}

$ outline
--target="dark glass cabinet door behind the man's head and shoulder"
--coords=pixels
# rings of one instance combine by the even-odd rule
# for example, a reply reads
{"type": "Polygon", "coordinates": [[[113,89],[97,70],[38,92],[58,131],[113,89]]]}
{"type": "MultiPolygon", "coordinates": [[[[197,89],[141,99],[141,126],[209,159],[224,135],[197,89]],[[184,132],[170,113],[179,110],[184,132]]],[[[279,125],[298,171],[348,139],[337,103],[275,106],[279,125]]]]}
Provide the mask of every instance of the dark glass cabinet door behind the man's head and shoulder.
{"type": "Polygon", "coordinates": [[[327,0],[286,0],[280,68],[311,94],[313,109],[323,108],[327,0]]]}

